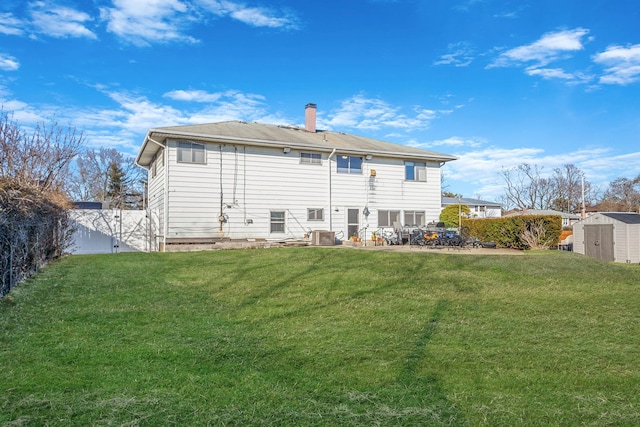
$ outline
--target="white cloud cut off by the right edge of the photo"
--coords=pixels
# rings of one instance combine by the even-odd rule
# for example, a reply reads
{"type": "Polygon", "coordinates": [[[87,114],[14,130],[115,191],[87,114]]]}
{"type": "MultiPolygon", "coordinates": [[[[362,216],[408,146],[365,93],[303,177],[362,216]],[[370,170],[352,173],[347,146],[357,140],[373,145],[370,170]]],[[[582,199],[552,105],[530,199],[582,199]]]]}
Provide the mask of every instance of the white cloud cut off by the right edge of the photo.
{"type": "Polygon", "coordinates": [[[640,44],[610,46],[593,60],[606,67],[605,74],[600,77],[602,84],[627,85],[640,80],[640,44]]]}

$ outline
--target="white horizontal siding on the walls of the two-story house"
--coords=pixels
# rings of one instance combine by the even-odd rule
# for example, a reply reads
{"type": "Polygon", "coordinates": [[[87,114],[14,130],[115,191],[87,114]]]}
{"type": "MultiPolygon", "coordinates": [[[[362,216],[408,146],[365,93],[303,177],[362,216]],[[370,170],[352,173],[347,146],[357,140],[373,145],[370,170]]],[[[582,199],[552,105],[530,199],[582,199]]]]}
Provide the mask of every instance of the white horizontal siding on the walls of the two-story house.
{"type": "MultiPolygon", "coordinates": [[[[323,165],[318,167],[309,167],[299,156],[284,154],[281,148],[221,148],[207,143],[203,154],[204,165],[178,162],[178,141],[169,140],[168,165],[159,168],[153,179],[161,185],[164,172],[168,172],[168,187],[156,194],[155,200],[151,200],[154,190],[150,180],[150,207],[153,202],[162,208],[161,197],[168,199],[167,238],[302,239],[309,230],[329,229],[342,231],[346,237],[348,208],[359,209],[363,226],[376,224],[380,209],[398,212],[394,219],[398,222],[407,210],[424,211],[426,222],[437,220],[440,214],[437,162],[427,163],[430,183],[424,185],[404,179],[402,159],[376,157],[361,162],[358,174],[349,174],[338,173],[338,156],[327,159],[328,153],[322,153],[323,165]],[[371,176],[370,169],[376,170],[376,176],[371,176]],[[371,212],[368,217],[362,214],[365,206],[371,212]],[[311,209],[316,209],[315,215],[311,209]],[[318,209],[322,209],[322,219],[318,209]],[[283,232],[271,232],[271,211],[285,212],[283,232]],[[220,214],[225,218],[222,224],[220,214]]],[[[163,216],[161,222],[164,212],[158,214],[163,216]]]]}

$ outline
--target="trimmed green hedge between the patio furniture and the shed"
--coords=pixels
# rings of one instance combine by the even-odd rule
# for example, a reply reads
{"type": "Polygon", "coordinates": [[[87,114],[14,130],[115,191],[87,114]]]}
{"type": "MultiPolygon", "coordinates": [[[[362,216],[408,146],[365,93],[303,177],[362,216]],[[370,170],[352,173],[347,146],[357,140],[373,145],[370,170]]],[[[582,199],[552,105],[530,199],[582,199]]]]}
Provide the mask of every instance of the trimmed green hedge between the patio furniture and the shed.
{"type": "Polygon", "coordinates": [[[462,227],[469,237],[483,242],[495,242],[501,248],[530,249],[522,234],[532,226],[544,228],[544,240],[554,244],[560,241],[562,217],[560,215],[518,215],[503,218],[463,219],[462,227]]]}

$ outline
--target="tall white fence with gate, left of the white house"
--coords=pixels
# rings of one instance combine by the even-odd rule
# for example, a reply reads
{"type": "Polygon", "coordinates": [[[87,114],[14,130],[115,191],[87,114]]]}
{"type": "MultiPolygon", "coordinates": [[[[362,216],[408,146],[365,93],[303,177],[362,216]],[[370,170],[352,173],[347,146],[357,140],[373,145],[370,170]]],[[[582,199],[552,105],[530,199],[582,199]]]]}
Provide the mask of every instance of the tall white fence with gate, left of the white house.
{"type": "Polygon", "coordinates": [[[69,216],[75,221],[72,254],[149,251],[146,211],[72,209],[69,216]]]}

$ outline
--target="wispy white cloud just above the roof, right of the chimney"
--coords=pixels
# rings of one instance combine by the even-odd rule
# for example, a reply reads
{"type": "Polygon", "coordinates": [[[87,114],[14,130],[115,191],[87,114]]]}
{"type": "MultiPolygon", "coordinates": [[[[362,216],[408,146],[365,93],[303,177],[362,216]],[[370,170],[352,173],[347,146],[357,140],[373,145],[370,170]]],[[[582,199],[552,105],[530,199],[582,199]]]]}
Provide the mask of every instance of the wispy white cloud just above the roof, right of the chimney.
{"type": "Polygon", "coordinates": [[[448,113],[414,107],[413,115],[407,116],[380,99],[355,95],[342,101],[340,108],[331,113],[331,118],[322,123],[329,128],[354,128],[379,130],[384,127],[418,130],[427,129],[438,114],[448,113]]]}

